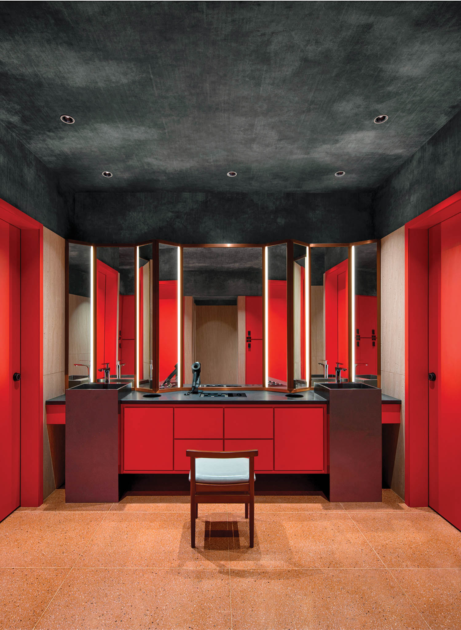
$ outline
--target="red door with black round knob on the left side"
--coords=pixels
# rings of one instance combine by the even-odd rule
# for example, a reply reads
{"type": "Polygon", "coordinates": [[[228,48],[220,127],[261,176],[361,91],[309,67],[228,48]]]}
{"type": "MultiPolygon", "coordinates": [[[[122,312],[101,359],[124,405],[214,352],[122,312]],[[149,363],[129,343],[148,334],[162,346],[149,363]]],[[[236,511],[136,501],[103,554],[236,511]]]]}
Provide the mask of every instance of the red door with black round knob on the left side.
{"type": "Polygon", "coordinates": [[[20,505],[21,232],[0,220],[0,520],[20,505]]]}

